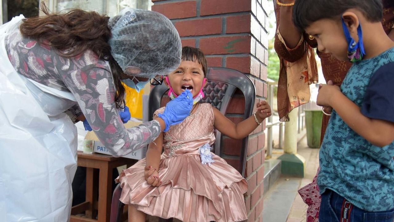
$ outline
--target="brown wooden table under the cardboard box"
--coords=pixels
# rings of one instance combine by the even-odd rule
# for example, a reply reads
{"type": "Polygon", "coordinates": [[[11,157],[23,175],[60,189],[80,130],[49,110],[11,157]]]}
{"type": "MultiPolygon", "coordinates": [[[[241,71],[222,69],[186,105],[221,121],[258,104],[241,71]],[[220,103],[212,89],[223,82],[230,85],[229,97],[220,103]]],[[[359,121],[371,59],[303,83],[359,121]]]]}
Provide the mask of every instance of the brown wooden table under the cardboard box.
{"type": "Polygon", "coordinates": [[[86,167],[86,199],[71,209],[70,222],[109,222],[112,201],[112,169],[115,167],[135,164],[138,160],[123,157],[113,157],[106,154],[92,153],[85,154],[78,151],[78,166],[86,167]],[[93,169],[99,169],[98,184],[94,177],[93,169]],[[94,191],[99,186],[99,198],[94,191]],[[93,211],[97,207],[97,220],[92,219],[93,211]],[[75,214],[85,212],[86,218],[75,216],[75,214]]]}

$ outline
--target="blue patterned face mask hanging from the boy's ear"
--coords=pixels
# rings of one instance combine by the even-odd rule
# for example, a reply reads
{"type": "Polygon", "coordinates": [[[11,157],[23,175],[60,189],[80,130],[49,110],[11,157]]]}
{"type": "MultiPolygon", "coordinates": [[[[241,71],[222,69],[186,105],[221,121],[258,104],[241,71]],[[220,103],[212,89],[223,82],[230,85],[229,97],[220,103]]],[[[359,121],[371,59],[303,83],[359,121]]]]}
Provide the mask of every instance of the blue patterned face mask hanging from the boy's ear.
{"type": "Polygon", "coordinates": [[[357,35],[359,36],[359,42],[355,42],[350,36],[348,26],[346,26],[344,19],[342,18],[342,28],[345,33],[346,41],[348,41],[348,58],[349,62],[360,62],[365,56],[364,43],[362,42],[362,30],[361,24],[357,28],[357,35]]]}

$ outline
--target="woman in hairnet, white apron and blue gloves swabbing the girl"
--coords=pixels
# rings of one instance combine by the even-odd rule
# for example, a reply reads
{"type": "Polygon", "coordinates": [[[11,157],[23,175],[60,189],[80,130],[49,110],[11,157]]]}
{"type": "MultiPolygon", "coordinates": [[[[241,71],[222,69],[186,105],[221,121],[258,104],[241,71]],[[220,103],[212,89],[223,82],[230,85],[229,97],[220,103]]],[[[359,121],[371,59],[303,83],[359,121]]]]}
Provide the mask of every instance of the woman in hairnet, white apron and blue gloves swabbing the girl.
{"type": "Polygon", "coordinates": [[[66,222],[84,117],[114,156],[153,141],[190,114],[190,92],[163,118],[126,129],[123,80],[137,90],[180,64],[177,30],[154,11],[124,9],[24,19],[0,26],[0,221],[66,222]],[[67,115],[68,113],[69,115],[67,115]],[[71,118],[70,118],[70,117],[71,118]]]}

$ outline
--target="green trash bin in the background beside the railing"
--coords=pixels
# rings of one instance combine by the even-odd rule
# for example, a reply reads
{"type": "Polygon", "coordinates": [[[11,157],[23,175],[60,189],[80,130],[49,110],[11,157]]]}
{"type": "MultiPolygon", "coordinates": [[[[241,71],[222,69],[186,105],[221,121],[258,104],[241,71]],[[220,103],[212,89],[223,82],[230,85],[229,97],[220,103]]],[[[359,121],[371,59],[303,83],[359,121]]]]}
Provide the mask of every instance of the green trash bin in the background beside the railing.
{"type": "Polygon", "coordinates": [[[322,134],[323,111],[305,110],[305,124],[307,126],[308,147],[320,148],[320,135],[322,134]]]}

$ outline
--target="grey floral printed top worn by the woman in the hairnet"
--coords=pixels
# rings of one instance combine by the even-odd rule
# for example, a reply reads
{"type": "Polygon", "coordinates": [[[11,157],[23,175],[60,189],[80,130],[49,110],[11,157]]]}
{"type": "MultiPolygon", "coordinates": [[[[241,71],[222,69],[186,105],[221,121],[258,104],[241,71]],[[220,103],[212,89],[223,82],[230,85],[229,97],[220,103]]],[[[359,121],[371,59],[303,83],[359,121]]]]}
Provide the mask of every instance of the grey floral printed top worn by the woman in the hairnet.
{"type": "Polygon", "coordinates": [[[65,112],[75,120],[82,113],[114,156],[124,156],[152,142],[161,132],[157,120],[126,129],[115,106],[115,85],[109,64],[91,51],[74,58],[25,38],[17,30],[5,40],[6,51],[21,75],[47,87],[71,92],[76,103],[65,112]]]}

